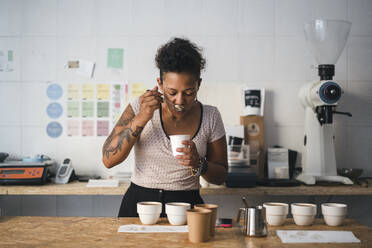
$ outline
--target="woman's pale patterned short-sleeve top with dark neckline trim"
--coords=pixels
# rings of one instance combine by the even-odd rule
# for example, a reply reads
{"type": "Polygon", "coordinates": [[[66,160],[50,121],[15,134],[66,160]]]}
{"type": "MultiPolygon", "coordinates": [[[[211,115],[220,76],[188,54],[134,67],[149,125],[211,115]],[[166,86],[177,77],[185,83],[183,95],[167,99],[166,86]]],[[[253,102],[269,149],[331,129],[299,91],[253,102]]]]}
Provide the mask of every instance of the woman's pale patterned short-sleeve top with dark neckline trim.
{"type": "MultiPolygon", "coordinates": [[[[130,105],[137,115],[140,111],[139,97],[130,105]]],[[[206,156],[207,144],[222,138],[225,129],[216,107],[202,105],[199,129],[192,141],[200,156],[206,156]]],[[[134,145],[135,166],[132,182],[147,188],[164,190],[199,189],[199,178],[191,175],[190,168],[178,164],[173,157],[170,139],[162,125],[161,109],[157,109],[147,122],[134,145]]]]}

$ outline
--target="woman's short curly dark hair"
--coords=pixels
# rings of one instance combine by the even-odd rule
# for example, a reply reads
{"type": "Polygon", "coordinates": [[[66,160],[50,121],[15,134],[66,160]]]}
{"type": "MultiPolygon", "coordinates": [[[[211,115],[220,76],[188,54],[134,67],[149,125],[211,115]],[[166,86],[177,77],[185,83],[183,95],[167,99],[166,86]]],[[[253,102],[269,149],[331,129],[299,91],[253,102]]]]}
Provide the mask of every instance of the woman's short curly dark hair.
{"type": "Polygon", "coordinates": [[[173,38],[161,46],[156,54],[156,66],[160,70],[160,80],[165,72],[185,72],[199,80],[200,72],[205,67],[202,49],[188,39],[173,38]]]}

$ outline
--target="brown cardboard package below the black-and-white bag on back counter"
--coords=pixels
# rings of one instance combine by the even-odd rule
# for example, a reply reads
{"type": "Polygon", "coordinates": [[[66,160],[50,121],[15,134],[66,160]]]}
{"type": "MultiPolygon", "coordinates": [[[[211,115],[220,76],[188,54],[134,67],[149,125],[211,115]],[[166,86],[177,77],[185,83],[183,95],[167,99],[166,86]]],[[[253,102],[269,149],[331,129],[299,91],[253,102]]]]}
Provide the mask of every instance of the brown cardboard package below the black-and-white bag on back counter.
{"type": "MultiPolygon", "coordinates": [[[[264,117],[263,116],[240,116],[240,124],[244,126],[244,142],[249,144],[250,153],[257,154],[257,174],[264,178],[264,117]]],[[[254,156],[251,156],[254,157],[254,156]]]]}

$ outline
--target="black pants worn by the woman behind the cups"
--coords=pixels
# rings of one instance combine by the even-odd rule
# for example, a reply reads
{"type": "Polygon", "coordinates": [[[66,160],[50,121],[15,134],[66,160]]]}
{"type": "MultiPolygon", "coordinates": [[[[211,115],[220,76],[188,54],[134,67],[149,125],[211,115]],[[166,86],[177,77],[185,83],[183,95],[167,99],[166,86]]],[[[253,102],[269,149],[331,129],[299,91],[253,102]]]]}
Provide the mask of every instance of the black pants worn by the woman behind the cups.
{"type": "Polygon", "coordinates": [[[137,202],[157,201],[162,203],[161,217],[165,217],[165,203],[187,202],[193,207],[204,203],[199,190],[151,189],[131,183],[121,202],[118,217],[138,217],[137,202]]]}

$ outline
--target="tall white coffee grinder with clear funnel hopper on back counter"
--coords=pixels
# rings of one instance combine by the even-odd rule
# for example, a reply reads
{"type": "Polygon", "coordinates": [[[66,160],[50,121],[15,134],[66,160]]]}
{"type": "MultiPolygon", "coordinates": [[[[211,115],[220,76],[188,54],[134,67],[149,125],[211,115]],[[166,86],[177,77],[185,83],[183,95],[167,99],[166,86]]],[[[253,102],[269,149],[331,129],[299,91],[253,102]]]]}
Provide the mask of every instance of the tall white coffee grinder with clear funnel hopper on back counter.
{"type": "Polygon", "coordinates": [[[351,23],[342,20],[313,20],[305,24],[305,36],[318,63],[320,80],[303,85],[298,97],[305,109],[302,173],[297,180],[305,184],[316,181],[353,184],[337,175],[333,115],[350,113],[336,111],[343,93],[333,80],[335,64],[349,36],[351,23]]]}

